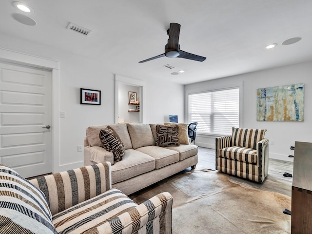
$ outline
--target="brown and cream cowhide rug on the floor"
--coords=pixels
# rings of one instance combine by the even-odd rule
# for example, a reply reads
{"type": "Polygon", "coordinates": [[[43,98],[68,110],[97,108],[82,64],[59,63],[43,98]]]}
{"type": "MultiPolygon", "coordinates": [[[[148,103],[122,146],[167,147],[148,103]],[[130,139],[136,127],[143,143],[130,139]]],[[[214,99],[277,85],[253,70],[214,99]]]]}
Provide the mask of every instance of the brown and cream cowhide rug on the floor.
{"type": "MultiPolygon", "coordinates": [[[[202,169],[200,169],[202,170],[202,169]]],[[[184,171],[132,196],[140,203],[160,192],[174,197],[173,234],[290,234],[291,197],[232,183],[213,170],[184,171]]]]}

